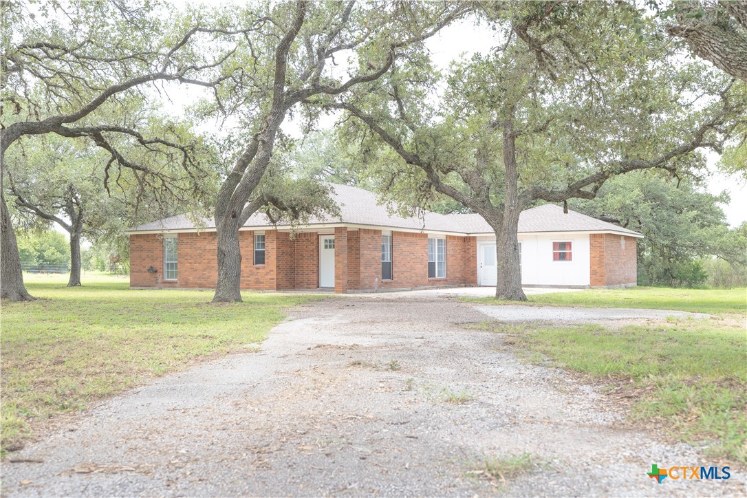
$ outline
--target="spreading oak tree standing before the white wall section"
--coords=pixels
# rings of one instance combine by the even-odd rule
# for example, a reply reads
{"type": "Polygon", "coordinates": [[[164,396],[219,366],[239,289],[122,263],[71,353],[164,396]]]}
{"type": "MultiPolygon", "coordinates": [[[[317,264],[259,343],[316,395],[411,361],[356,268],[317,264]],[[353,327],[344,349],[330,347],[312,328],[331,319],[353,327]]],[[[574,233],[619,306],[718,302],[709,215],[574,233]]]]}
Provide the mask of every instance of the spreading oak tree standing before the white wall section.
{"type": "MultiPolygon", "coordinates": [[[[499,299],[524,300],[518,217],[538,201],[593,199],[607,179],[703,164],[745,119],[734,83],[641,26],[624,4],[519,4],[492,20],[503,43],[452,66],[397,66],[330,107],[399,161],[409,190],[435,190],[480,214],[498,243],[499,299]],[[435,102],[424,105],[425,102],[435,102]]],[[[400,189],[404,188],[400,180],[400,189]]]]}

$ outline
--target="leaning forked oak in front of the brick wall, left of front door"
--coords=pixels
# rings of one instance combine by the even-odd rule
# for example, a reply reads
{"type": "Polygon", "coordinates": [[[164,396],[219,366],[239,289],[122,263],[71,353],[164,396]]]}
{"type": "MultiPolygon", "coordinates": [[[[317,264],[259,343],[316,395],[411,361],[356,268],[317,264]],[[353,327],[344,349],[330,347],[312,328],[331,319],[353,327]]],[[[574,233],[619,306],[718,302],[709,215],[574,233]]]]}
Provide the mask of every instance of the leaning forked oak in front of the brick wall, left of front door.
{"type": "MultiPolygon", "coordinates": [[[[292,205],[308,202],[309,196],[295,195],[289,201],[261,188],[286,116],[304,114],[313,121],[316,111],[305,110],[306,102],[344,95],[376,81],[395,60],[417,52],[423,40],[467,11],[453,2],[296,1],[249,6],[228,19],[242,32],[236,40],[241,78],[226,80],[217,102],[202,112],[238,119],[246,138],[234,149],[233,165],[226,169],[215,203],[214,302],[241,301],[238,230],[252,214],[268,206],[291,214],[318,208],[313,203],[292,205]]],[[[314,195],[323,198],[323,190],[316,190],[314,195]]]]}

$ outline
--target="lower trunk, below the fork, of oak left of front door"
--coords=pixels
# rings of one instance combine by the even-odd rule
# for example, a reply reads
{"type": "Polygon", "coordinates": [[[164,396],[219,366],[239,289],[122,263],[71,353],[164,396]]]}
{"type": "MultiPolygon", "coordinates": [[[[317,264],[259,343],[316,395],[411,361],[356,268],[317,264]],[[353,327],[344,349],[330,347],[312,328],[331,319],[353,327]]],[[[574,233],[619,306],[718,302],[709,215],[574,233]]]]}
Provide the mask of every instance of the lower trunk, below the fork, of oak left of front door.
{"type": "Polygon", "coordinates": [[[213,302],[241,302],[241,248],[238,245],[238,228],[235,222],[215,223],[218,235],[218,283],[213,302]]]}

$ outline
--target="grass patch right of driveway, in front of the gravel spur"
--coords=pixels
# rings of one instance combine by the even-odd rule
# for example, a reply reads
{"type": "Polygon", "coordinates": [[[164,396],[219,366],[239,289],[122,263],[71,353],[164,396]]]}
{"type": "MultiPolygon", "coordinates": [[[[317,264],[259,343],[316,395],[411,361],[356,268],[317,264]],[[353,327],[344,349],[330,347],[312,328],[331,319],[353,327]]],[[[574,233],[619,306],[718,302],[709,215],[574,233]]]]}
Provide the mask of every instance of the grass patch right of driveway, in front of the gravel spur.
{"type": "Polygon", "coordinates": [[[535,363],[585,373],[633,394],[631,417],[747,464],[744,316],[656,326],[483,323],[535,363]]]}

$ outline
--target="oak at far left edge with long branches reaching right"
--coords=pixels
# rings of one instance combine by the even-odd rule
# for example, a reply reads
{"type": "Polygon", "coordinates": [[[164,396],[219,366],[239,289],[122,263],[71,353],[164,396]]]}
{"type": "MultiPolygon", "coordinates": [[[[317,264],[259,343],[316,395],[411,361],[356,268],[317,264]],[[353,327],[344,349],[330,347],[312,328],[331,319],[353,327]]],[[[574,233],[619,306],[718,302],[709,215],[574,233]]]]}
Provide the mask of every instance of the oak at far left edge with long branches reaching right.
{"type": "Polygon", "coordinates": [[[170,24],[152,4],[122,2],[0,1],[0,296],[33,299],[23,285],[16,236],[4,196],[4,157],[21,137],[58,134],[89,140],[105,150],[109,177],[128,170],[143,187],[164,178],[120,151],[120,144],[182,153],[185,175],[196,170],[188,150],[161,137],[145,137],[112,116],[143,85],[177,81],[214,87],[214,76],[233,47],[206,50],[215,31],[170,24]],[[104,22],[105,21],[105,22],[104,22]],[[199,39],[199,40],[196,40],[199,39]],[[202,43],[202,50],[194,46],[202,43]],[[101,112],[108,108],[105,112],[101,112]]]}

